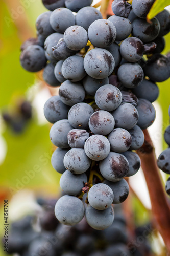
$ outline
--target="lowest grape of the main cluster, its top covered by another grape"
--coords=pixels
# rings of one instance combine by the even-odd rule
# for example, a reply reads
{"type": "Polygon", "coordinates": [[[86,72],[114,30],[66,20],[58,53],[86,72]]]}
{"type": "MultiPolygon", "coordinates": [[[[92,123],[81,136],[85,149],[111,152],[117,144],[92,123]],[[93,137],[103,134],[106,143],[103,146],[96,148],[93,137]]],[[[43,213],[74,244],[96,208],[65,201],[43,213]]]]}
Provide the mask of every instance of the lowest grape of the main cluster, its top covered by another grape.
{"type": "Polygon", "coordinates": [[[87,205],[85,216],[87,223],[94,229],[103,230],[111,226],[114,220],[114,210],[110,206],[106,210],[96,210],[90,204],[87,205]]]}

